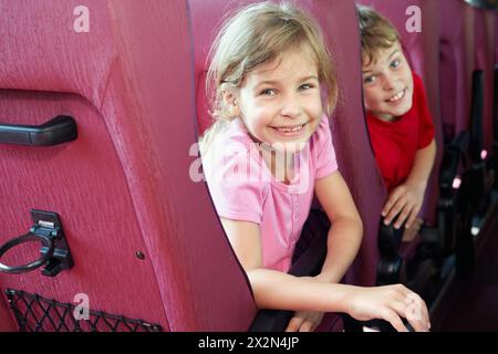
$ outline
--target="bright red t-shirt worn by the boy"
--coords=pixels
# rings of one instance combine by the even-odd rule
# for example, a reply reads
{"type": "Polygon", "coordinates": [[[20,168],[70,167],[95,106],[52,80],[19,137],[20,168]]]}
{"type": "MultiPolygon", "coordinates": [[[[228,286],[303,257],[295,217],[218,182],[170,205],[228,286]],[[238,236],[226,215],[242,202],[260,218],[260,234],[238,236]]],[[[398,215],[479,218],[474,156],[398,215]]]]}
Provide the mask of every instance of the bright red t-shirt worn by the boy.
{"type": "Polygon", "coordinates": [[[370,138],[387,190],[403,184],[412,170],[415,154],[434,138],[434,125],[424,84],[413,73],[412,108],[395,122],[366,114],[370,138]]]}

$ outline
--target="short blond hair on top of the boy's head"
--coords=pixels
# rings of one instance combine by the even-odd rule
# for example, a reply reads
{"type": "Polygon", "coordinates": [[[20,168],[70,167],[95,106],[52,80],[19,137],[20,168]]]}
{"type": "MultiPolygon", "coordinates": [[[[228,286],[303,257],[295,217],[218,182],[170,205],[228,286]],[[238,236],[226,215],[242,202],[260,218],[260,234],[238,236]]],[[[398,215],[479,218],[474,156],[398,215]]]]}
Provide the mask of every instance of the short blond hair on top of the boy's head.
{"type": "Polygon", "coordinates": [[[391,48],[400,41],[400,33],[396,28],[374,9],[356,6],[360,22],[360,33],[362,37],[363,62],[369,65],[376,61],[380,50],[391,48]]]}

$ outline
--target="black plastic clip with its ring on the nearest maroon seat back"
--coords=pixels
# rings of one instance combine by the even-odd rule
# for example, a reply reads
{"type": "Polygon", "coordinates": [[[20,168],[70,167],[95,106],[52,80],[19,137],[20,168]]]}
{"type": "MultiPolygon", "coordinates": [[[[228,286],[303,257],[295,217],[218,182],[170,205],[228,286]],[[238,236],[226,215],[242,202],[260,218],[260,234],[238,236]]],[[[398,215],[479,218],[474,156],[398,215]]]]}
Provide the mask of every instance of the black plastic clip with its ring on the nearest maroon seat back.
{"type": "Polygon", "coordinates": [[[62,270],[71,269],[74,266],[71,250],[62,229],[62,223],[56,212],[31,210],[33,226],[27,235],[7,241],[0,247],[0,259],[11,248],[17,244],[32,241],[41,241],[41,257],[23,266],[6,266],[0,263],[0,271],[9,274],[21,274],[33,271],[41,266],[45,266],[42,274],[55,277],[62,270]]]}

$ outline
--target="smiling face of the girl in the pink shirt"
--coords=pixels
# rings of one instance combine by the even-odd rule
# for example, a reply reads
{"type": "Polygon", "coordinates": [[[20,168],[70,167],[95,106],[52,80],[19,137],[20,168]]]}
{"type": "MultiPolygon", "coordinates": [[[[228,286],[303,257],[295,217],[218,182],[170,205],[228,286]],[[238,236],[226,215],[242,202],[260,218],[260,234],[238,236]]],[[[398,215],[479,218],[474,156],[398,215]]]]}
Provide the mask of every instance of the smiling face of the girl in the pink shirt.
{"type": "Polygon", "coordinates": [[[308,48],[282,53],[248,73],[235,94],[237,113],[255,140],[298,152],[322,116],[317,63],[308,48]]]}

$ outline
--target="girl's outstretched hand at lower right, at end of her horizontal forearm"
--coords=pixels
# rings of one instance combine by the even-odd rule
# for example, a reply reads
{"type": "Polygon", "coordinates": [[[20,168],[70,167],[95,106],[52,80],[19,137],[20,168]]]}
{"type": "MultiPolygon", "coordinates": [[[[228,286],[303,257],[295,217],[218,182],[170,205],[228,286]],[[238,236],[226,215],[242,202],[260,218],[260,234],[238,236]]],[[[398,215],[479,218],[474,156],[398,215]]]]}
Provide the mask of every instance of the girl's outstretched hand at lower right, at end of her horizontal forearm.
{"type": "Polygon", "coordinates": [[[427,306],[416,293],[402,284],[354,288],[347,296],[346,312],[359,321],[382,319],[398,332],[407,332],[402,317],[417,332],[430,329],[427,306]]]}

